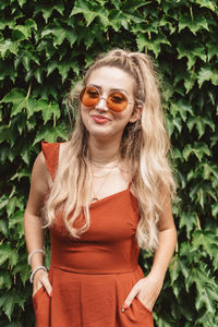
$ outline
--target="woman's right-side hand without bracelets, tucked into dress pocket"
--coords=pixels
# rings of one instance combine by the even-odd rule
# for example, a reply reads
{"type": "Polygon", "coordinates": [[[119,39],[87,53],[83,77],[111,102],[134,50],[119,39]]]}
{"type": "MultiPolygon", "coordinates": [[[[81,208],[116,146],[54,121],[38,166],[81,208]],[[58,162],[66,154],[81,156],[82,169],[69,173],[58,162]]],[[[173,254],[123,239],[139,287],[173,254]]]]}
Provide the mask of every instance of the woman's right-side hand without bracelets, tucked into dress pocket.
{"type": "Polygon", "coordinates": [[[153,311],[153,306],[155,305],[155,302],[161,291],[162,283],[164,280],[161,278],[158,278],[152,274],[140,279],[125,299],[123,303],[124,308],[128,308],[134,298],[137,296],[146,308],[153,311]]]}

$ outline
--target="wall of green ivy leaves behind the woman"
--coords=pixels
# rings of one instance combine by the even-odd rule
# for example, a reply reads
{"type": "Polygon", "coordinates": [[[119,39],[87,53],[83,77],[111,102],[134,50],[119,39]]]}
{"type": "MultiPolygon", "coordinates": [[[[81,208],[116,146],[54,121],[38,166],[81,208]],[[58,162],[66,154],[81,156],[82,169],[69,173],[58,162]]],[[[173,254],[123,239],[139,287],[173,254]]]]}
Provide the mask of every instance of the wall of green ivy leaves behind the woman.
{"type": "Polygon", "coordinates": [[[23,214],[40,141],[66,140],[65,94],[97,53],[121,46],[156,61],[178,179],[178,245],[156,326],[218,326],[217,1],[1,0],[0,10],[0,325],[35,324],[23,214]]]}

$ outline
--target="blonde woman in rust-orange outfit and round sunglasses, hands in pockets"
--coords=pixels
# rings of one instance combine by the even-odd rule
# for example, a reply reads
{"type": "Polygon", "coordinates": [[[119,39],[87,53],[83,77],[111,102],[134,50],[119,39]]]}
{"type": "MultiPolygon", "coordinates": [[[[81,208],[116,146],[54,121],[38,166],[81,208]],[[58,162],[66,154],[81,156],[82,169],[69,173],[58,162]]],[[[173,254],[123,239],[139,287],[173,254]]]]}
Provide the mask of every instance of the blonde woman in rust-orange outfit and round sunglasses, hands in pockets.
{"type": "Polygon", "coordinates": [[[37,327],[152,327],[177,232],[169,140],[149,57],[121,49],[99,56],[69,95],[74,102],[70,141],[43,143],[25,210],[37,327]],[[146,276],[140,247],[154,251],[146,276]]]}

